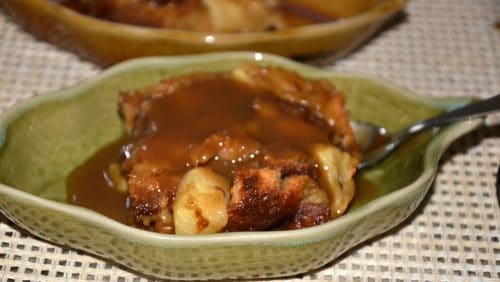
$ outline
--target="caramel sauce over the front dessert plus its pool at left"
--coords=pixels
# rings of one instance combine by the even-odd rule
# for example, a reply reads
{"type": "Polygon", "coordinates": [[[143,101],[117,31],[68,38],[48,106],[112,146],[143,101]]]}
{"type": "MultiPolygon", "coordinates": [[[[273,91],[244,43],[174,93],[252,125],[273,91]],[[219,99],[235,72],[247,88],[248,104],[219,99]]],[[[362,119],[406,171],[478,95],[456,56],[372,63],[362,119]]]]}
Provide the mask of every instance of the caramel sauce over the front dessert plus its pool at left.
{"type": "MultiPolygon", "coordinates": [[[[143,126],[132,136],[101,149],[69,175],[70,203],[127,223],[127,192],[117,191],[107,174],[111,163],[121,163],[131,153],[180,179],[193,167],[193,148],[207,136],[229,133],[245,140],[239,135],[245,132],[259,143],[258,151],[251,151],[244,159],[212,158],[203,164],[231,179],[237,168],[260,167],[266,153],[309,156],[310,145],[329,143],[332,131],[326,124],[306,121],[303,109],[222,74],[157,98],[142,118],[143,126]]],[[[364,194],[373,188],[358,189],[364,194]]],[[[367,197],[371,194],[356,196],[367,197]]]]}

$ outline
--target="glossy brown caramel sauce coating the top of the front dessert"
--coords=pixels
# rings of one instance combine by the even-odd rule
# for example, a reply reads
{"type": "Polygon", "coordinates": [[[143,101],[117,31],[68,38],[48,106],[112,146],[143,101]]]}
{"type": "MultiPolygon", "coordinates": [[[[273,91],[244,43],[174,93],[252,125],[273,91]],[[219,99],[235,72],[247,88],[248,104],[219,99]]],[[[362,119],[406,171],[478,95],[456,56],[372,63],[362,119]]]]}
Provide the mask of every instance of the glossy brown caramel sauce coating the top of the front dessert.
{"type": "Polygon", "coordinates": [[[146,136],[133,146],[142,148],[136,154],[179,176],[192,168],[191,150],[211,134],[221,133],[241,141],[237,150],[252,146],[245,140],[247,134],[263,145],[259,152],[250,150],[254,158],[214,159],[204,165],[231,178],[236,167],[259,166],[265,152],[282,155],[292,150],[307,154],[310,144],[328,143],[332,130],[306,122],[300,109],[224,75],[155,100],[145,119],[148,126],[136,132],[146,136]]]}

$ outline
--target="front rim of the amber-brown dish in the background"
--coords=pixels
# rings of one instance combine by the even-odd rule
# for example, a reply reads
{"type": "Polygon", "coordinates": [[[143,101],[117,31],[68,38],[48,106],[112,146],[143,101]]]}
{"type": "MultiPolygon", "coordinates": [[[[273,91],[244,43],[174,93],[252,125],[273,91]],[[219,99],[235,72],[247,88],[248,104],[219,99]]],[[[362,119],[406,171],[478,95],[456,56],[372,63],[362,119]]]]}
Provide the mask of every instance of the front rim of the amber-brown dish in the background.
{"type": "MultiPolygon", "coordinates": [[[[350,25],[357,25],[370,19],[372,16],[387,16],[397,12],[406,5],[408,0],[382,0],[373,8],[368,9],[358,15],[339,19],[333,22],[310,24],[298,27],[291,27],[274,32],[245,32],[245,33],[223,33],[223,32],[199,32],[171,28],[154,28],[137,26],[126,23],[118,23],[107,21],[92,16],[88,16],[70,8],[64,7],[56,3],[47,3],[47,5],[57,5],[51,8],[54,12],[62,11],[63,17],[71,17],[73,21],[80,21],[83,25],[93,26],[94,29],[109,33],[123,34],[123,30],[127,30],[131,34],[140,37],[149,38],[172,38],[176,41],[192,41],[207,45],[231,45],[247,42],[265,41],[265,40],[280,40],[289,38],[290,34],[300,36],[314,36],[318,34],[331,33],[335,30],[344,29],[350,25]],[[395,7],[384,10],[388,3],[397,3],[395,7]],[[380,14],[377,14],[380,13],[380,14]],[[206,36],[213,36],[213,42],[205,41],[206,36]]],[[[68,19],[69,20],[69,19],[68,19]]]]}

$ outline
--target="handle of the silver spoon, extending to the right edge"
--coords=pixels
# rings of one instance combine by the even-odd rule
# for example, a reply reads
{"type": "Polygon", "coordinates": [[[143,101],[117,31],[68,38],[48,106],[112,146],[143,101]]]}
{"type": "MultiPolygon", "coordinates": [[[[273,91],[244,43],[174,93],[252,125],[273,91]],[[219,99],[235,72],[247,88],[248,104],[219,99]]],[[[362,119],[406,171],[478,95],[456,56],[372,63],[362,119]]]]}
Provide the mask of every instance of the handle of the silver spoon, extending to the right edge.
{"type": "Polygon", "coordinates": [[[423,129],[445,125],[461,119],[485,116],[495,111],[500,111],[500,94],[416,123],[408,127],[405,134],[413,134],[423,129]]]}

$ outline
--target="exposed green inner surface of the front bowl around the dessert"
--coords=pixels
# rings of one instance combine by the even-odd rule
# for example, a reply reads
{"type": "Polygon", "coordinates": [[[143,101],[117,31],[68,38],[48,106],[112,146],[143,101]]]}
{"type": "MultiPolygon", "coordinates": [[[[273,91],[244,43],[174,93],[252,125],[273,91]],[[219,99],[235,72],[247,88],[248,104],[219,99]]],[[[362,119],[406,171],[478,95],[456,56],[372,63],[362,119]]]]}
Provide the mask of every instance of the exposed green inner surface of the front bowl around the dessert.
{"type": "MultiPolygon", "coordinates": [[[[322,71],[271,55],[224,53],[139,59],[115,66],[75,87],[35,97],[4,115],[0,119],[0,182],[45,199],[66,202],[67,175],[124,134],[117,113],[120,91],[141,88],[166,76],[228,71],[241,61],[279,65],[308,77],[330,80],[346,92],[352,118],[388,130],[466,102],[416,99],[373,78],[322,71]]],[[[430,132],[416,136],[385,162],[359,173],[358,183],[364,190],[358,193],[352,208],[415,180],[422,173],[423,152],[431,138],[430,132]]]]}

